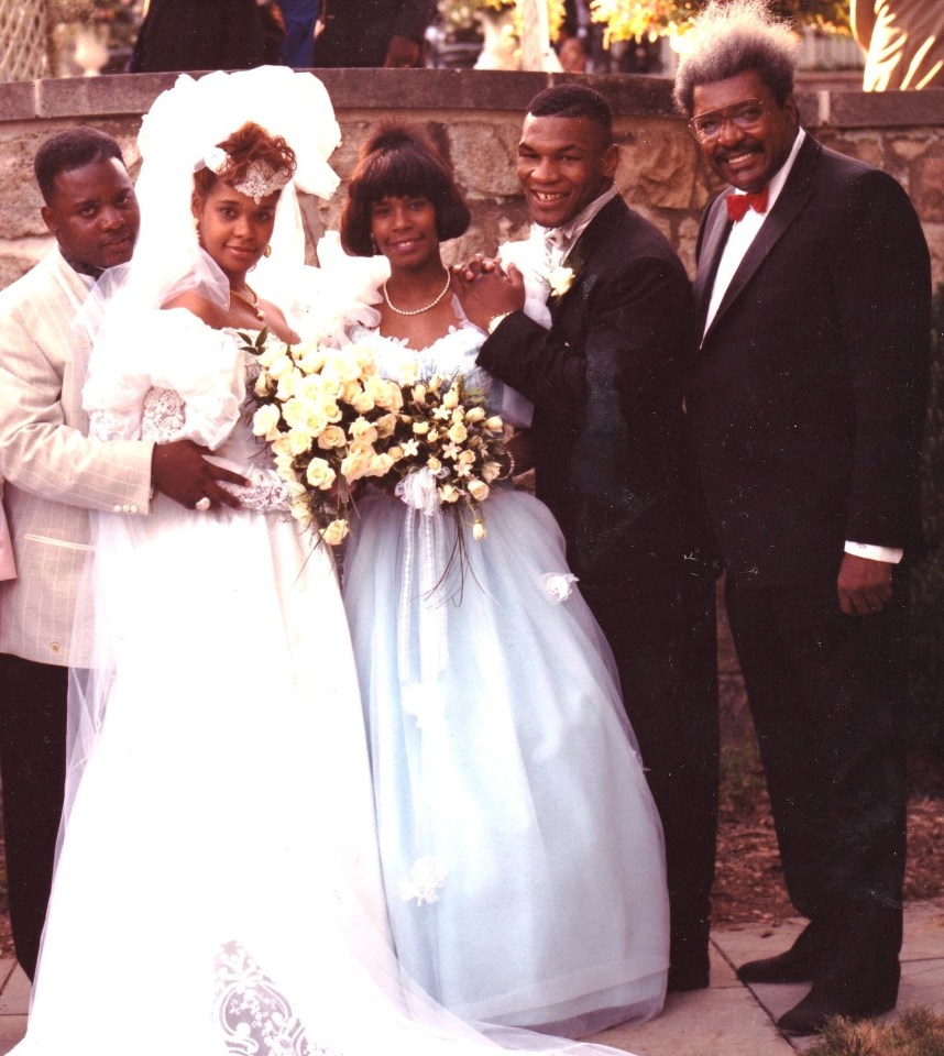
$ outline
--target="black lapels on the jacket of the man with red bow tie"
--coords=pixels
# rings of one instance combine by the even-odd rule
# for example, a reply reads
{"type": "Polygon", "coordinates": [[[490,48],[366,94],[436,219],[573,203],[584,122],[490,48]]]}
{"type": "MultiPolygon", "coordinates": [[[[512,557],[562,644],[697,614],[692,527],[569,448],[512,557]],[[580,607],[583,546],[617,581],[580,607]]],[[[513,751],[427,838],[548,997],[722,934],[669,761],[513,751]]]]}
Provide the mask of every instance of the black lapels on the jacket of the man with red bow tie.
{"type": "MultiPolygon", "coordinates": [[[[791,223],[797,219],[797,217],[803,211],[806,206],[806,202],[810,199],[810,194],[812,190],[812,175],[813,168],[815,166],[816,160],[822,153],[822,147],[815,140],[812,139],[809,134],[803,142],[803,145],[800,147],[800,152],[797,154],[797,160],[793,163],[793,168],[790,170],[790,175],[787,177],[787,183],[783,186],[783,189],[780,191],[779,197],[770,210],[770,216],[764,221],[760,230],[757,232],[757,238],[750,243],[750,248],[747,253],[744,255],[744,260],[738,265],[737,271],[732,277],[731,284],[725,290],[724,297],[722,298],[721,304],[717,307],[714,319],[712,319],[711,327],[709,327],[707,334],[714,330],[717,326],[718,320],[724,316],[724,314],[731,308],[731,306],[737,300],[740,294],[744,292],[748,283],[754,278],[757,270],[767,258],[770,251],[773,246],[780,241],[784,231],[787,231],[791,223]]],[[[720,202],[721,199],[718,199],[720,202]]],[[[720,206],[717,212],[721,216],[724,216],[720,206]]],[[[717,217],[714,218],[713,228],[722,226],[717,220],[717,217]]],[[[709,237],[713,233],[710,232],[709,237]]],[[[721,249],[717,249],[716,256],[712,261],[709,255],[709,245],[705,245],[705,268],[704,272],[699,267],[699,278],[696,279],[695,287],[699,295],[699,317],[704,323],[705,315],[707,314],[709,301],[711,300],[711,288],[712,282],[714,279],[714,273],[717,270],[717,263],[721,258],[721,249]],[[712,270],[709,270],[711,265],[712,270]],[[701,287],[699,287],[701,284],[701,287]]]]}

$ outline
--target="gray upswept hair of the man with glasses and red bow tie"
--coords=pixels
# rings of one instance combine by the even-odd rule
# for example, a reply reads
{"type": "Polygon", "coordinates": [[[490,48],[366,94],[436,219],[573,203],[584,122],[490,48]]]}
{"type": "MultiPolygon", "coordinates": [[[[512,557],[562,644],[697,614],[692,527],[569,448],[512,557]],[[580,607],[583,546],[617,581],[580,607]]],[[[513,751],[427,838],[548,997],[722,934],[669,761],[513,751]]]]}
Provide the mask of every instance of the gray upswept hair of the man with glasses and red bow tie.
{"type": "Polygon", "coordinates": [[[676,107],[691,113],[699,85],[753,70],[782,105],[793,91],[799,42],[767,0],[711,0],[682,37],[676,74],[676,107]]]}

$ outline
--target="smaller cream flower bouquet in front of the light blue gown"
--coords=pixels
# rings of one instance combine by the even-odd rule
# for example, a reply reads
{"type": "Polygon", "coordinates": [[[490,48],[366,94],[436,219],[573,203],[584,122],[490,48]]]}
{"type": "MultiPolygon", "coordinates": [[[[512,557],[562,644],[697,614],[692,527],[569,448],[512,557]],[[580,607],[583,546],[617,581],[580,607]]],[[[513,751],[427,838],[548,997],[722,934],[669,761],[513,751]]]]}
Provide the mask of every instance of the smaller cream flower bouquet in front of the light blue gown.
{"type": "Polygon", "coordinates": [[[388,449],[396,494],[417,508],[431,499],[470,512],[473,539],[484,539],[480,507],[490,485],[508,474],[504,422],[489,415],[484,394],[468,389],[461,375],[420,380],[416,365],[407,364],[400,382],[403,407],[388,449]]]}

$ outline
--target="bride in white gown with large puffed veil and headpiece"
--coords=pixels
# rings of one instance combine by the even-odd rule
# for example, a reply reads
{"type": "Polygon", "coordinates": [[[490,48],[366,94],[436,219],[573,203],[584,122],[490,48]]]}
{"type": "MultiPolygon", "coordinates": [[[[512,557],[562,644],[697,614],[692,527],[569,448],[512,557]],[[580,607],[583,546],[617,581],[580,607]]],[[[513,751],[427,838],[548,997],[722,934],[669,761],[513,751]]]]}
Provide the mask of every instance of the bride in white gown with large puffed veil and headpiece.
{"type": "MultiPolygon", "coordinates": [[[[239,512],[158,496],[150,517],[98,518],[80,617],[96,668],[70,698],[22,1056],[600,1052],[486,1038],[405,981],[389,950],[333,564],[286,515],[251,436],[254,362],[238,338],[337,330],[344,315],[288,310],[301,261],[289,179],[330,194],[337,139],[321,85],[287,69],[182,77],[145,118],[142,238],[92,354],[92,428],[189,437],[249,485],[239,512]],[[253,287],[277,290],[285,314],[246,284],[256,261],[253,287]]],[[[363,311],[350,307],[349,320],[363,311]]]]}

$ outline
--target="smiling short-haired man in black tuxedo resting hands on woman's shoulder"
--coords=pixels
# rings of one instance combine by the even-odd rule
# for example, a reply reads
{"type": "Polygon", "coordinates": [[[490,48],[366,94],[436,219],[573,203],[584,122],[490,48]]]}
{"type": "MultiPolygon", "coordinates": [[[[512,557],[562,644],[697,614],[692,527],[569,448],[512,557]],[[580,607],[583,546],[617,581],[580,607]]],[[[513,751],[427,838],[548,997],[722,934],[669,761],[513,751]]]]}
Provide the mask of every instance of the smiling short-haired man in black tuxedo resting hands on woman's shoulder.
{"type": "Polygon", "coordinates": [[[537,495],[616,658],[666,832],[669,987],[691,990],[709,981],[718,752],[714,569],[682,414],[692,298],[668,242],[617,195],[618,158],[597,92],[540,92],[517,174],[570,288],[546,329],[522,311],[514,267],[472,266],[457,285],[490,333],[480,364],[535,405],[537,495]]]}

